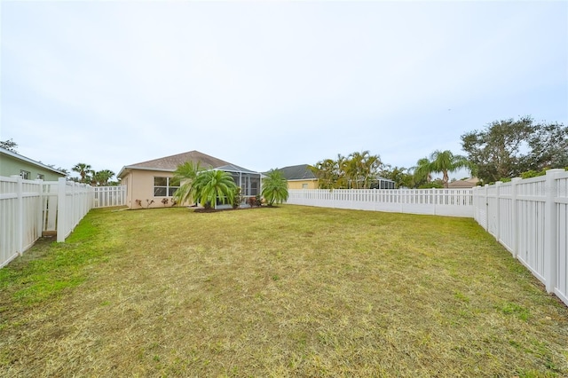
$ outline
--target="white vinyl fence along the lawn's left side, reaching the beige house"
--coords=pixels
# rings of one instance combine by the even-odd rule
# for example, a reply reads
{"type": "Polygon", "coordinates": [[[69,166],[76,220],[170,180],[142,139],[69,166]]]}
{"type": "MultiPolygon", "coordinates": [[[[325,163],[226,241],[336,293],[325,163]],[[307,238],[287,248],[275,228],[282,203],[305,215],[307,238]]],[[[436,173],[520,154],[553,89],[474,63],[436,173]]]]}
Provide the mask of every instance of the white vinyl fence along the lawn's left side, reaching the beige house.
{"type": "Polygon", "coordinates": [[[106,190],[65,178],[0,177],[0,267],[30,248],[44,232],[57,232],[57,241],[65,241],[89,210],[124,205],[125,193],[125,186],[106,190]]]}

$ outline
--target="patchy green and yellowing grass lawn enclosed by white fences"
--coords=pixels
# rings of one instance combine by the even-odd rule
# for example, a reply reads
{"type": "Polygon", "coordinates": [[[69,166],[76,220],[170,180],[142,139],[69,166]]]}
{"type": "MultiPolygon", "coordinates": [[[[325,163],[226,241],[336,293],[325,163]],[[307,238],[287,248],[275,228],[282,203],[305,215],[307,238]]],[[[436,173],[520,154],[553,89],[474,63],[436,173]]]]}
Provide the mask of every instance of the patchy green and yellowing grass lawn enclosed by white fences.
{"type": "Polygon", "coordinates": [[[568,309],[472,219],[92,210],[0,270],[3,376],[568,376],[568,309]]]}

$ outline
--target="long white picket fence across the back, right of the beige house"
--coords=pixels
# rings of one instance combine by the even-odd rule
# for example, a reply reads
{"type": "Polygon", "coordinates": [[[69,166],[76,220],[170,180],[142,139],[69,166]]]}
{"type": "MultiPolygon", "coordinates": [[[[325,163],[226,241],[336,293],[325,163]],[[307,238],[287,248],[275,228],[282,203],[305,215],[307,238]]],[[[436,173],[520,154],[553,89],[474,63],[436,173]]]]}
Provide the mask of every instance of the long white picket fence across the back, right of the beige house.
{"type": "Polygon", "coordinates": [[[472,189],[290,189],[286,203],[336,209],[473,217],[472,189]]]}

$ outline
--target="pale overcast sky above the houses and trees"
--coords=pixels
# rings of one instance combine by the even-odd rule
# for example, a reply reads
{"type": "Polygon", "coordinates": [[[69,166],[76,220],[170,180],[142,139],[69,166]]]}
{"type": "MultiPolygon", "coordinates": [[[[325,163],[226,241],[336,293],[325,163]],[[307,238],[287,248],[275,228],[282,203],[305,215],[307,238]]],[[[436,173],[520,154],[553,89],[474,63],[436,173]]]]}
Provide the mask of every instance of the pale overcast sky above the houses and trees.
{"type": "Polygon", "coordinates": [[[0,0],[0,21],[0,140],[68,170],[409,168],[494,121],[568,124],[568,2],[0,0]]]}

